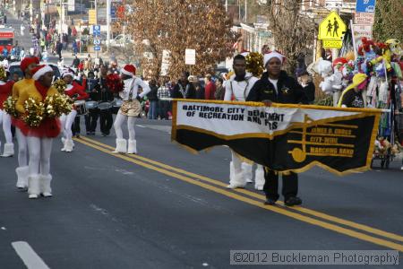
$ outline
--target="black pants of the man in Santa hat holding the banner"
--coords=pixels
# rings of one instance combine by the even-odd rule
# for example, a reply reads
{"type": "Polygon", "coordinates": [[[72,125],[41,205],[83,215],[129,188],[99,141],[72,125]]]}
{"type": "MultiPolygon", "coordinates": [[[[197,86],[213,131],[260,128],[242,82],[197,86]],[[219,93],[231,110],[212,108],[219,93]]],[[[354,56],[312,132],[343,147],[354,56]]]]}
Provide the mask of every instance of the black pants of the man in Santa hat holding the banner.
{"type": "MultiPolygon", "coordinates": [[[[298,175],[291,172],[288,176],[283,175],[282,178],[281,194],[286,201],[289,197],[295,197],[298,194],[298,175]]],[[[266,197],[277,201],[279,199],[279,175],[276,175],[272,170],[265,170],[264,179],[263,191],[266,197]]]]}

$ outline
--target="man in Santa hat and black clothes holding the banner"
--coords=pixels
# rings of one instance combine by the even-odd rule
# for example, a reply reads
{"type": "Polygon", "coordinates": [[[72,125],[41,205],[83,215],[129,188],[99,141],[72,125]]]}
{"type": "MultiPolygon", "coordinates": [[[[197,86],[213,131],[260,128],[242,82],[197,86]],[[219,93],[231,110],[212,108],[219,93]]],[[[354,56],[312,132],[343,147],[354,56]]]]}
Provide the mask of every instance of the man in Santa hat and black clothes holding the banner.
{"type": "MultiPolygon", "coordinates": [[[[264,55],[263,63],[267,72],[263,73],[262,78],[254,84],[246,99],[247,101],[263,101],[270,106],[271,102],[297,104],[305,100],[304,91],[298,82],[281,70],[284,59],[285,56],[278,51],[264,55]]],[[[276,157],[271,156],[271,158],[276,157]]],[[[274,170],[266,169],[264,178],[266,182],[263,191],[267,199],[265,204],[276,204],[279,199],[279,174],[274,170]]],[[[298,193],[298,175],[289,172],[284,173],[282,178],[284,204],[287,206],[302,204],[302,200],[296,196],[298,193]]]]}

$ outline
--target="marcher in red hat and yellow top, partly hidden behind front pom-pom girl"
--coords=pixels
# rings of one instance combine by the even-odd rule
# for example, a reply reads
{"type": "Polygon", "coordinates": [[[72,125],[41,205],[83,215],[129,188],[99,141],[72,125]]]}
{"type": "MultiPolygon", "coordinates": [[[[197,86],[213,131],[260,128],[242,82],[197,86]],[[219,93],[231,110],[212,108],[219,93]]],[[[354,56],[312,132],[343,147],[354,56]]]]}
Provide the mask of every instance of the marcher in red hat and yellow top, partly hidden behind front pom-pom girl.
{"type": "MultiPolygon", "coordinates": [[[[20,66],[24,74],[24,79],[14,83],[13,98],[18,99],[23,91],[33,85],[32,70],[37,65],[39,65],[39,58],[35,56],[24,57],[21,61],[20,66]]],[[[15,172],[17,173],[17,187],[21,189],[28,187],[28,145],[26,136],[22,134],[18,127],[20,121],[21,117],[12,119],[18,143],[18,168],[15,169],[15,172]]]]}

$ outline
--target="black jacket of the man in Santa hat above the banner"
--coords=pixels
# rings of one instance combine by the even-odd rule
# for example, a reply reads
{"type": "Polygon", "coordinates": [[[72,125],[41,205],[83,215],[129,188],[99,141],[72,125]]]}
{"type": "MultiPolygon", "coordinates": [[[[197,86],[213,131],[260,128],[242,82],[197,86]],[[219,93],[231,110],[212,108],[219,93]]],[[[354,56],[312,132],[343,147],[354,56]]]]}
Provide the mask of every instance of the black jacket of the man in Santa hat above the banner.
{"type": "Polygon", "coordinates": [[[262,74],[261,79],[254,83],[246,101],[270,100],[274,103],[283,104],[307,103],[301,85],[294,78],[288,76],[285,71],[281,71],[279,75],[277,89],[279,90],[278,92],[269,81],[269,74],[265,72],[262,74]]]}

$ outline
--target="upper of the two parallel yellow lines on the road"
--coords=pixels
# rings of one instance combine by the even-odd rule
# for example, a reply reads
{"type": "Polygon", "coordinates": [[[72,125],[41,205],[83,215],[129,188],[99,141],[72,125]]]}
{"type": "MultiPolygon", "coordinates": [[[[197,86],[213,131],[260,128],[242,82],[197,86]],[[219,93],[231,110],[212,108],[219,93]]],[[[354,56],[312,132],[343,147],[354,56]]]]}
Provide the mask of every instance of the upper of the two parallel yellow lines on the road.
{"type": "MultiPolygon", "coordinates": [[[[107,145],[105,143],[100,143],[100,142],[98,142],[96,140],[92,140],[92,139],[84,137],[84,136],[81,136],[81,139],[83,139],[85,141],[88,141],[90,143],[98,144],[99,146],[102,146],[102,147],[110,149],[110,150],[115,149],[114,147],[109,146],[109,145],[107,145]]],[[[78,140],[78,141],[80,142],[80,140],[78,140]]],[[[214,185],[219,186],[219,187],[227,187],[226,183],[223,183],[223,182],[221,182],[219,180],[212,179],[212,178],[207,178],[207,177],[204,177],[204,176],[201,176],[201,175],[186,171],[184,169],[177,169],[177,168],[174,168],[174,167],[172,167],[170,165],[161,163],[159,161],[150,160],[148,158],[141,157],[139,155],[126,155],[126,156],[129,157],[129,158],[132,158],[132,159],[136,159],[136,160],[140,160],[140,161],[146,161],[146,162],[149,162],[149,163],[151,163],[153,165],[159,166],[159,167],[161,167],[163,169],[169,169],[169,170],[184,174],[184,175],[189,176],[189,177],[193,177],[193,178],[203,180],[205,182],[209,182],[209,183],[214,184],[214,185]]],[[[250,190],[238,188],[238,189],[235,189],[233,191],[236,191],[237,193],[241,193],[243,195],[248,195],[250,197],[257,198],[257,199],[262,200],[262,201],[266,200],[266,197],[264,195],[259,195],[259,194],[255,193],[253,191],[250,191],[250,190]]],[[[281,202],[281,201],[279,201],[278,204],[284,205],[284,203],[281,202]]],[[[392,239],[392,240],[403,242],[403,237],[398,235],[398,234],[391,233],[391,232],[385,231],[385,230],[376,229],[376,228],[373,228],[373,227],[370,227],[370,226],[367,226],[367,225],[364,225],[364,224],[356,223],[354,221],[347,221],[347,220],[341,219],[339,217],[335,217],[335,216],[332,216],[332,215],[329,215],[329,214],[326,214],[326,213],[317,212],[317,211],[314,211],[312,209],[304,208],[302,206],[288,207],[287,209],[291,209],[291,210],[294,210],[294,211],[297,211],[297,212],[300,212],[300,213],[306,213],[306,214],[312,215],[314,217],[321,218],[322,220],[332,221],[332,222],[335,222],[335,223],[338,223],[338,224],[345,225],[347,227],[354,228],[356,230],[363,230],[365,232],[372,233],[374,235],[381,236],[381,237],[384,237],[384,238],[387,238],[387,239],[392,239]]]]}

